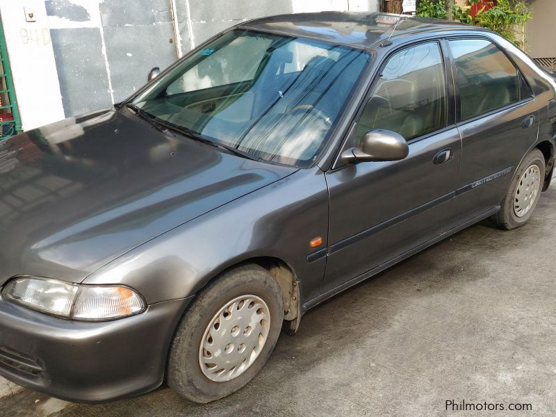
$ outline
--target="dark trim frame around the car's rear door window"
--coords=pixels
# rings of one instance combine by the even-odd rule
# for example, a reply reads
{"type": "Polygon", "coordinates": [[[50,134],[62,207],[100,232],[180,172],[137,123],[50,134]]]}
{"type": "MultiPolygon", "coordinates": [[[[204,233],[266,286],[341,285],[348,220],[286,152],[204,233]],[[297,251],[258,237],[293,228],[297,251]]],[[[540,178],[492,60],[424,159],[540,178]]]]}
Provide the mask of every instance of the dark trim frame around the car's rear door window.
{"type": "Polygon", "coordinates": [[[527,78],[525,78],[525,76],[523,75],[523,72],[521,71],[521,68],[519,67],[519,65],[516,64],[516,62],[512,59],[511,56],[509,56],[509,54],[507,54],[507,51],[505,51],[505,49],[503,47],[500,46],[500,44],[498,44],[498,42],[496,42],[496,40],[494,40],[493,38],[490,38],[489,36],[486,35],[448,35],[448,36],[444,36],[443,40],[446,43],[446,54],[448,55],[448,57],[450,58],[450,63],[452,65],[452,79],[454,82],[454,87],[455,87],[455,99],[456,99],[456,106],[455,106],[455,124],[456,126],[462,126],[464,124],[470,123],[470,122],[476,122],[477,120],[480,120],[484,117],[489,117],[491,115],[493,115],[494,113],[500,112],[500,111],[506,111],[509,110],[510,108],[514,108],[514,107],[518,107],[521,106],[523,104],[526,104],[530,101],[533,101],[535,98],[534,95],[534,90],[531,88],[531,85],[529,83],[529,81],[527,80],[527,78]],[[502,54],[504,54],[504,56],[507,58],[507,60],[509,60],[509,62],[514,66],[514,68],[516,69],[516,73],[518,76],[519,83],[520,83],[520,87],[519,87],[519,100],[518,101],[514,101],[513,103],[507,104],[506,106],[502,106],[499,108],[495,108],[494,110],[488,111],[486,113],[481,113],[480,115],[476,115],[473,117],[470,117],[466,120],[461,120],[461,95],[459,94],[459,83],[457,81],[457,76],[455,76],[455,74],[457,74],[457,67],[455,64],[455,59],[452,55],[452,49],[450,48],[450,41],[451,40],[486,40],[487,42],[490,42],[491,44],[493,44],[496,48],[498,48],[498,51],[502,52],[502,54]],[[530,92],[532,93],[532,95],[530,97],[521,97],[521,82],[525,82],[525,85],[527,86],[528,90],[530,90],[530,92]]]}

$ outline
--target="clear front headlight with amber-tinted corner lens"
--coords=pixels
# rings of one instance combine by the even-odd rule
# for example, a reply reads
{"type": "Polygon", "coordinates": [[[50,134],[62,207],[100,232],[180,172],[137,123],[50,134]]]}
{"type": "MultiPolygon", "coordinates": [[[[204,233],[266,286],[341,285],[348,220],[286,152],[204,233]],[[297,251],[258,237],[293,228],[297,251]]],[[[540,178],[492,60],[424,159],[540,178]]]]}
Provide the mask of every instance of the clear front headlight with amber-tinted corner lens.
{"type": "Polygon", "coordinates": [[[146,308],[142,297],[128,287],[72,284],[36,277],[12,279],[2,296],[30,309],[74,320],[113,320],[146,308]]]}

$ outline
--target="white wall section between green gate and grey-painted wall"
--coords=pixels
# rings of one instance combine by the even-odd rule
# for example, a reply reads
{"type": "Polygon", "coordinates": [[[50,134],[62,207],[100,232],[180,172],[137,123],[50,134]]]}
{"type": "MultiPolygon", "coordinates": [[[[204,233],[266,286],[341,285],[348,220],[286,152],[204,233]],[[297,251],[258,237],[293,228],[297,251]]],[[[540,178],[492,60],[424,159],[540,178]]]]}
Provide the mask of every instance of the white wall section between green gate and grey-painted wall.
{"type": "Polygon", "coordinates": [[[0,0],[22,128],[33,129],[64,118],[60,83],[44,0],[0,0]],[[26,22],[24,6],[36,22],[26,22]]]}

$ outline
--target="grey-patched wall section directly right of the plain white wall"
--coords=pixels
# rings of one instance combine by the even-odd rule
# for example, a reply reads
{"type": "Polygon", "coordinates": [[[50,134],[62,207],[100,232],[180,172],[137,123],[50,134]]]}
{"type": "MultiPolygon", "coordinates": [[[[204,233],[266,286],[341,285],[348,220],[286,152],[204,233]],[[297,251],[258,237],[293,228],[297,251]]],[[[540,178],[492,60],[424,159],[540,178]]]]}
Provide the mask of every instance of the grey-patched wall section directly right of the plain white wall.
{"type": "Polygon", "coordinates": [[[177,58],[167,0],[44,3],[66,116],[125,99],[177,58]]]}

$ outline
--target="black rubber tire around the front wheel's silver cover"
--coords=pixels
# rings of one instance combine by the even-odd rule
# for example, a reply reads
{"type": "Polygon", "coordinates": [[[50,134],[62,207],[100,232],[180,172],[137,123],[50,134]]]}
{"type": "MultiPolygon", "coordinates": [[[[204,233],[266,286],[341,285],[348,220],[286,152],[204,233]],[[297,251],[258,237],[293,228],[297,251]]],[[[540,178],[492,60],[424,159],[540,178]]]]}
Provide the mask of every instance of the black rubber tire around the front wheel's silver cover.
{"type": "Polygon", "coordinates": [[[199,403],[218,400],[238,391],[259,373],[272,354],[283,320],[281,290],[267,270],[250,264],[225,272],[199,293],[181,319],[170,345],[168,385],[186,400],[199,403]],[[268,336],[259,356],[242,374],[227,382],[215,382],[204,375],[199,365],[199,346],[215,314],[242,295],[260,297],[268,306],[268,336]]]}

